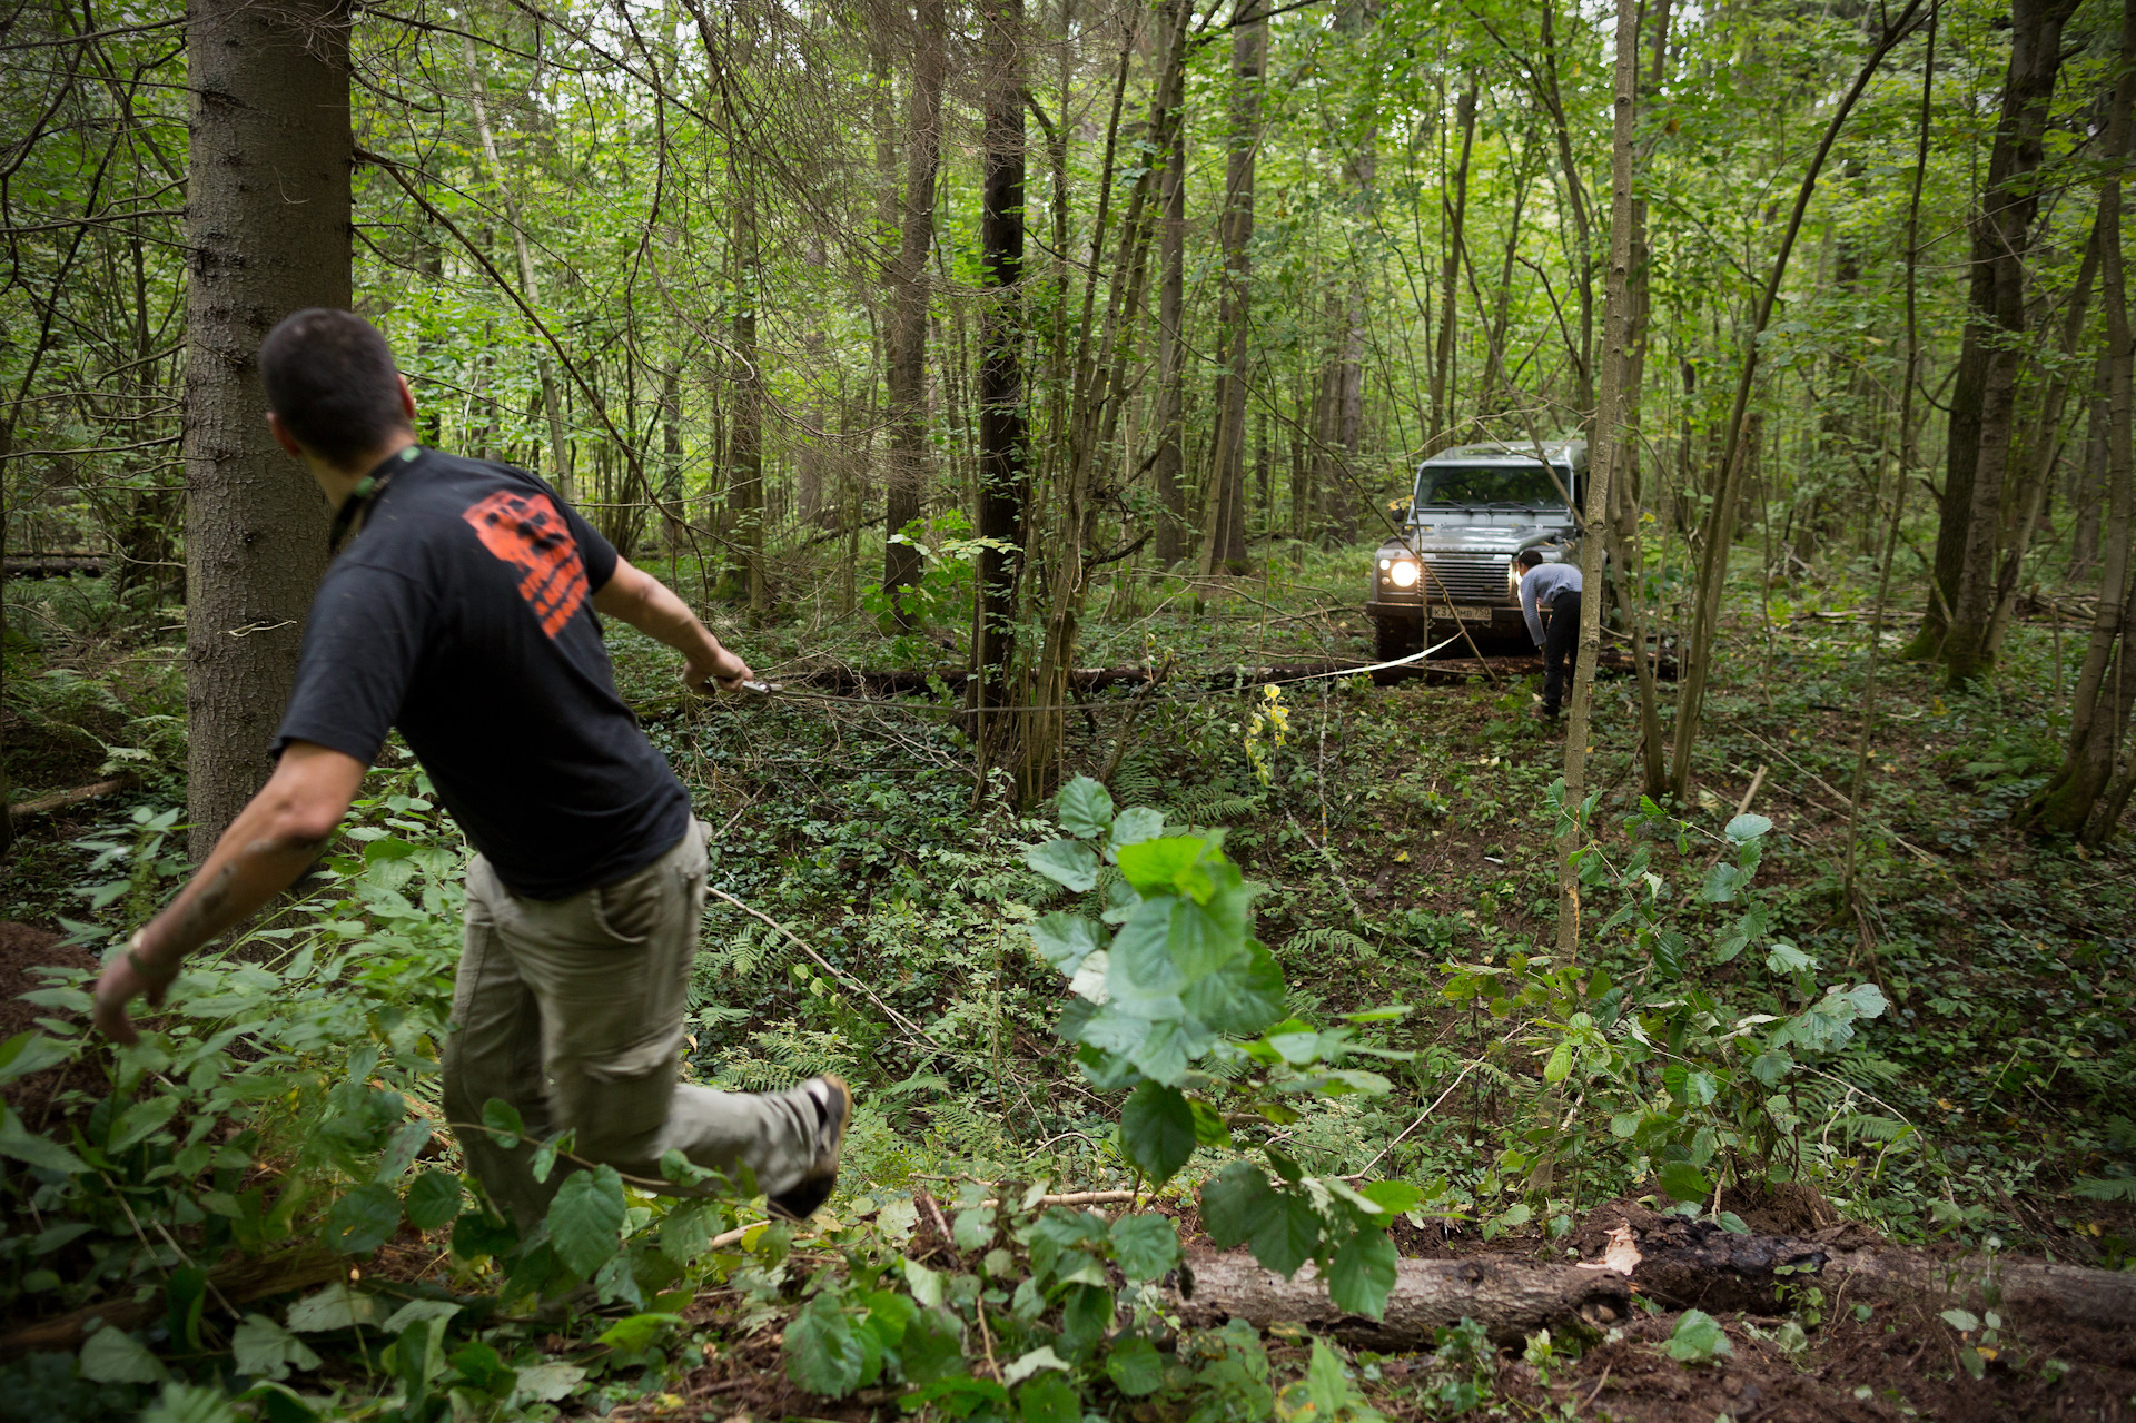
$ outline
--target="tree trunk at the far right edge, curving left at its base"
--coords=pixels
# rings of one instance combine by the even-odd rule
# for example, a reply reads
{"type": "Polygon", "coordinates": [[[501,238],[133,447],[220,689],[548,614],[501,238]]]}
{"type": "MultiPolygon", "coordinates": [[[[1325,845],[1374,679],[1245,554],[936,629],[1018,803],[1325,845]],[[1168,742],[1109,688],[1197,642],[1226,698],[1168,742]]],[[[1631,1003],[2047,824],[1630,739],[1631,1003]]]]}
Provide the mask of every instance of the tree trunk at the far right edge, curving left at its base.
{"type": "Polygon", "coordinates": [[[2132,147],[2132,107],[2136,107],[2136,4],[2123,4],[2121,79],[2106,120],[2102,154],[2106,179],[2100,182],[2100,303],[2106,312],[2106,348],[2100,353],[2100,365],[2106,376],[2106,472],[2113,487],[2113,517],[2106,526],[2100,613],[2070,701],[2070,744],[2055,780],[2016,816],[2036,829],[2076,833],[2087,844],[2113,835],[2132,782],[2127,771],[2115,776],[2130,703],[2136,701],[2136,656],[2132,656],[2136,650],[2130,647],[2130,626],[2136,620],[2136,598],[2132,598],[2136,583],[2130,581],[2136,470],[2130,451],[2130,293],[2121,252],[2121,171],[2132,147]],[[2108,662],[2113,662],[2110,673],[2108,662]]]}

